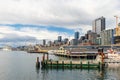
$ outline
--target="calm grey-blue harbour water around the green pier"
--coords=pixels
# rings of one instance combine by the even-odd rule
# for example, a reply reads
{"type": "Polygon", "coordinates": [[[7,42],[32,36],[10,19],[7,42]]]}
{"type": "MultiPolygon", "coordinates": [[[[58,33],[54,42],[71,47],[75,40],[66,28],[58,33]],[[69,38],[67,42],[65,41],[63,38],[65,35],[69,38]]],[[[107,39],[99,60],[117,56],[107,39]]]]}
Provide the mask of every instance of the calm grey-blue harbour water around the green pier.
{"type": "MultiPolygon", "coordinates": [[[[120,67],[111,64],[104,71],[81,69],[36,69],[36,57],[22,51],[0,51],[0,80],[120,80],[120,67]]],[[[50,55],[52,59],[58,59],[50,55]]]]}

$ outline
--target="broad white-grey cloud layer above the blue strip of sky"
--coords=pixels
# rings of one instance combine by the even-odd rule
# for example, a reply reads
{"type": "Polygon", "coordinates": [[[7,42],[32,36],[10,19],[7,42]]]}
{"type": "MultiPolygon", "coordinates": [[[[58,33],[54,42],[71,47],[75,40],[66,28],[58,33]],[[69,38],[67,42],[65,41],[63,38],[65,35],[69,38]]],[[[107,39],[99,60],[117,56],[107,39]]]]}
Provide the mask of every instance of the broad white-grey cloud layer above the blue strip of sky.
{"type": "Polygon", "coordinates": [[[91,26],[97,17],[114,20],[113,16],[120,14],[119,3],[119,0],[0,0],[0,23],[91,26]]]}

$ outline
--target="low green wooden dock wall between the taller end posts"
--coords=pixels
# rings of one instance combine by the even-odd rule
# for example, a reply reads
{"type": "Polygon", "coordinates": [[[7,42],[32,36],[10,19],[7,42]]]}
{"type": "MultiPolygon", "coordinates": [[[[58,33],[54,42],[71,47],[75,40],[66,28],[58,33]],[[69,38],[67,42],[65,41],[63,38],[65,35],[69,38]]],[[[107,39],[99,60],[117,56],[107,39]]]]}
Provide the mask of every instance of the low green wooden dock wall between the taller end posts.
{"type": "Polygon", "coordinates": [[[42,69],[102,69],[102,64],[83,61],[41,61],[42,69]]]}

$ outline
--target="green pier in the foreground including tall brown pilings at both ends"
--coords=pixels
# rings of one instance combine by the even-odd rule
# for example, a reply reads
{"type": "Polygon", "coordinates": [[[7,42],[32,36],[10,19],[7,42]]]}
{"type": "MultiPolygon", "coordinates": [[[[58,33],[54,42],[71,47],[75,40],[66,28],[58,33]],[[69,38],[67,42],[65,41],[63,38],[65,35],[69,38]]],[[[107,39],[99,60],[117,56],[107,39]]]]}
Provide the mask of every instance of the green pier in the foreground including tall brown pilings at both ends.
{"type": "Polygon", "coordinates": [[[104,53],[103,50],[98,50],[98,57],[95,60],[49,60],[49,55],[43,54],[43,59],[41,61],[41,68],[55,68],[55,69],[103,69],[104,63],[104,53]],[[47,59],[45,59],[47,58],[47,59]]]}

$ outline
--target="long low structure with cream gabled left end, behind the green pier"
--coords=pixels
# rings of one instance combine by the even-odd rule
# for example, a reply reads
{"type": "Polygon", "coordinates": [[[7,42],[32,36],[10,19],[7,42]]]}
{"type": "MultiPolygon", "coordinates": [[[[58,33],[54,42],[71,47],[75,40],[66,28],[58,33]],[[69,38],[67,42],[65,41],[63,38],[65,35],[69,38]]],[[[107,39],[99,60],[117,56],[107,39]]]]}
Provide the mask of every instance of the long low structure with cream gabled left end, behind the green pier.
{"type": "MultiPolygon", "coordinates": [[[[106,54],[104,51],[103,53],[106,54]]],[[[70,58],[81,58],[81,59],[96,59],[98,55],[98,49],[82,49],[82,48],[73,48],[65,49],[60,47],[54,53],[57,56],[70,57],[70,58]]]]}

